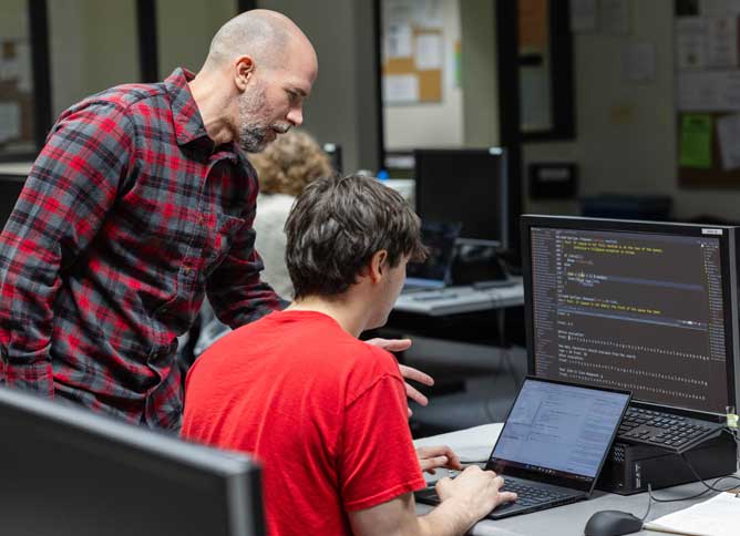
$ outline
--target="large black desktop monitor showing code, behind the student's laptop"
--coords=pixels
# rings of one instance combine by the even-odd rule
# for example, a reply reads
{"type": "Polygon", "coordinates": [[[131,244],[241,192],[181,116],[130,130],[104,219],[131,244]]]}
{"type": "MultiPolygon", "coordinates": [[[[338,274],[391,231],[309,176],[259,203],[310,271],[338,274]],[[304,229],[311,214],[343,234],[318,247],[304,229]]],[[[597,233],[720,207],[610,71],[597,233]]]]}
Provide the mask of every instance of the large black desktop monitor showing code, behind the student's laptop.
{"type": "Polygon", "coordinates": [[[740,370],[739,230],[523,216],[530,373],[724,415],[740,370]]]}

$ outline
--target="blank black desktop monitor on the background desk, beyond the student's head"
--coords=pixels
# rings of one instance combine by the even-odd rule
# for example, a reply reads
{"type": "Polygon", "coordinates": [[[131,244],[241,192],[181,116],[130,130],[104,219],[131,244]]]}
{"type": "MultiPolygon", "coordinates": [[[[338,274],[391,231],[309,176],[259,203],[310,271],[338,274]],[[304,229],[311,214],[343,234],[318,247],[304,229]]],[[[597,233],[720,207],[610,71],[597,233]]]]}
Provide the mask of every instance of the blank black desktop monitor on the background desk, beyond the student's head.
{"type": "Polygon", "coordinates": [[[508,234],[506,153],[414,151],[417,213],[422,220],[460,221],[460,236],[505,248],[508,234]]]}

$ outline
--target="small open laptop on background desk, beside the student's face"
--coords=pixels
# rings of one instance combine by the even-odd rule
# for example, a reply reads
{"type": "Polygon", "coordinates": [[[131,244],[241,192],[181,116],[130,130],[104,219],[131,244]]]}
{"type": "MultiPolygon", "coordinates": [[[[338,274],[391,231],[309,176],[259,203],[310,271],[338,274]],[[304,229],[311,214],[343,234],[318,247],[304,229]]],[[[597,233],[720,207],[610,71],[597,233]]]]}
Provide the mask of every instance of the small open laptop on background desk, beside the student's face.
{"type": "Polygon", "coordinates": [[[461,229],[459,221],[421,223],[421,241],[429,248],[429,257],[424,262],[407,265],[403,292],[441,289],[450,284],[455,241],[461,229]]]}

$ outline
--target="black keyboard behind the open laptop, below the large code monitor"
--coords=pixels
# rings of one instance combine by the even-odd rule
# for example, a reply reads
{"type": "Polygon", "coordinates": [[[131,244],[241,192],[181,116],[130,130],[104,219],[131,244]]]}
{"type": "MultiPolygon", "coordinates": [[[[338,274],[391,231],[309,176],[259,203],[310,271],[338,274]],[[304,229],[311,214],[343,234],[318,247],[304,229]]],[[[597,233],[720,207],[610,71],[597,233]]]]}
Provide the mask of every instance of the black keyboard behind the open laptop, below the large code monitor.
{"type": "Polygon", "coordinates": [[[724,424],[630,406],[619,424],[617,441],[641,443],[681,454],[719,435],[724,424]]]}

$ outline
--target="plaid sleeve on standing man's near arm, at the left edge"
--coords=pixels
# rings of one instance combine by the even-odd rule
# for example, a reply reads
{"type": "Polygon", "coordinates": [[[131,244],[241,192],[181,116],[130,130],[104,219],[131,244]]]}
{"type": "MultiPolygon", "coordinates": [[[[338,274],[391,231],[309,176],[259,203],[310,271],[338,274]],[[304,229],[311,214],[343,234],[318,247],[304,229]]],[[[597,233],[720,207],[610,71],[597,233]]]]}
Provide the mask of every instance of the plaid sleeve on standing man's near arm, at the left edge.
{"type": "MultiPolygon", "coordinates": [[[[133,156],[134,127],[111,103],[54,125],[0,235],[0,351],[6,382],[53,396],[52,305],[100,229],[133,156]]],[[[2,370],[0,370],[0,379],[2,370]]]]}

